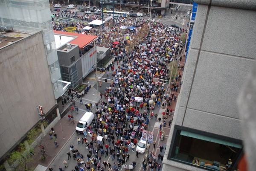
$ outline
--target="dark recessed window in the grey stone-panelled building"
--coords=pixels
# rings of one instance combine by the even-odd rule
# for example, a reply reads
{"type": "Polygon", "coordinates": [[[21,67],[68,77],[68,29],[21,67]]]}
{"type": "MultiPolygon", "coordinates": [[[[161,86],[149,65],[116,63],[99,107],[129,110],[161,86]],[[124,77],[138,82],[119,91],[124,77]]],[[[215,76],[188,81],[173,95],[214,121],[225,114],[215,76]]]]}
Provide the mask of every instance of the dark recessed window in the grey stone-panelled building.
{"type": "Polygon", "coordinates": [[[237,139],[175,125],[168,159],[210,171],[234,171],[242,153],[237,139]]]}

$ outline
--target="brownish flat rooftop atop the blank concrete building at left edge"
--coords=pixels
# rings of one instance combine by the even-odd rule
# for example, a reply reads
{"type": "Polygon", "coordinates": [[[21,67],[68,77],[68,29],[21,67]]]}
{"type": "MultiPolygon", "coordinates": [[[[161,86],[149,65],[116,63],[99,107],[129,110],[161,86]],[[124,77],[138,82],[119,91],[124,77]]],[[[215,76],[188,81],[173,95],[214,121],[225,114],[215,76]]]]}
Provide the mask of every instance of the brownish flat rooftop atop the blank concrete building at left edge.
{"type": "Polygon", "coordinates": [[[30,34],[21,32],[1,32],[0,33],[0,49],[28,37],[30,34]]]}

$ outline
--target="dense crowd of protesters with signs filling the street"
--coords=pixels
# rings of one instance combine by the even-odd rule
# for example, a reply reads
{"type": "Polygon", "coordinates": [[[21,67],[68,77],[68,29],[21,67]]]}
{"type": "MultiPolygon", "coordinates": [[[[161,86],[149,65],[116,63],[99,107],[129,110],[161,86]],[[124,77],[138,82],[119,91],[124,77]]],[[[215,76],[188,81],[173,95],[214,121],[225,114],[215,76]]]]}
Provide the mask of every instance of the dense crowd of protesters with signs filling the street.
{"type": "MultiPolygon", "coordinates": [[[[110,21],[113,22],[113,21],[110,21]]],[[[153,78],[162,80],[169,79],[169,62],[172,60],[181,60],[175,58],[173,45],[179,42],[180,31],[175,32],[168,29],[168,26],[156,21],[146,21],[143,18],[120,18],[118,22],[113,22],[105,32],[93,29],[91,33],[98,35],[97,44],[107,44],[111,47],[111,53],[115,56],[114,64],[106,69],[108,77],[113,78],[113,84],[101,93],[101,101],[96,103],[96,113],[92,124],[84,134],[77,138],[79,145],[84,145],[87,155],[74,149],[70,145],[70,152],[67,153],[68,159],[73,157],[77,161],[75,171],[118,171],[121,167],[132,170],[135,165],[135,159],[129,159],[129,152],[133,151],[138,157],[136,145],[142,136],[142,131],[147,130],[149,117],[159,122],[162,114],[150,113],[148,101],[151,95],[155,94],[155,105],[170,105],[172,100],[177,97],[173,94],[167,98],[166,84],[154,82],[153,78]],[[134,26],[135,30],[120,30],[120,26],[134,26]],[[149,32],[141,38],[136,46],[131,50],[125,47],[129,45],[137,36],[143,26],[149,28],[149,32]],[[128,36],[128,38],[127,38],[128,36]],[[114,41],[118,41],[115,46],[114,41]],[[146,43],[142,45],[142,43],[146,43]],[[118,66],[118,67],[115,67],[118,66]],[[141,100],[135,101],[134,97],[141,100]],[[88,135],[89,134],[89,135],[88,135]],[[98,141],[96,136],[102,136],[102,141],[98,141]],[[110,162],[102,161],[102,157],[111,156],[110,162]]],[[[77,23],[75,23],[77,24],[77,23]]],[[[63,30],[67,25],[61,26],[63,30]]],[[[58,28],[54,26],[54,28],[58,28]]],[[[79,31],[77,31],[79,32],[79,31]]],[[[89,32],[90,33],[90,32],[89,32]]],[[[182,46],[181,46],[182,47],[182,46]]],[[[179,51],[176,51],[178,53],[179,51]]],[[[177,55],[176,55],[177,56],[177,55]]],[[[180,76],[174,79],[179,81],[180,76]]],[[[167,83],[168,84],[168,83],[167,83]]],[[[172,90],[180,86],[174,84],[172,90]]],[[[153,108],[152,108],[153,109],[153,108]]],[[[172,114],[172,110],[166,110],[166,116],[172,114]]],[[[168,117],[167,117],[168,119],[168,117]]],[[[164,118],[165,122],[166,118],[164,118]]],[[[169,126],[170,126],[169,121],[169,126]]],[[[162,125],[161,125],[162,126],[162,125]]],[[[160,129],[161,129],[160,126],[160,129]]],[[[158,135],[155,135],[158,136],[158,135]]],[[[155,148],[154,142],[154,148],[155,148]]],[[[148,158],[143,159],[143,170],[150,168],[151,171],[160,171],[161,161],[163,160],[164,147],[160,146],[160,153],[150,152],[148,158]]],[[[63,161],[67,167],[67,161],[63,161]]],[[[62,171],[62,167],[59,168],[62,171]]]]}

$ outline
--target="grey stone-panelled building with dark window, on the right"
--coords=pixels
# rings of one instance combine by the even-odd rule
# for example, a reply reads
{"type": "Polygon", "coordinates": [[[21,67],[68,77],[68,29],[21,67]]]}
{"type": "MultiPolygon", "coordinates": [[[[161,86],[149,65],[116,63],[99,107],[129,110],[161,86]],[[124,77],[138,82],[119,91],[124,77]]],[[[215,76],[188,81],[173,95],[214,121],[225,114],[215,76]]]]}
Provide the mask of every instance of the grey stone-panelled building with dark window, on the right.
{"type": "Polygon", "coordinates": [[[256,64],[256,1],[195,0],[198,9],[163,171],[237,171],[236,105],[256,64]]]}

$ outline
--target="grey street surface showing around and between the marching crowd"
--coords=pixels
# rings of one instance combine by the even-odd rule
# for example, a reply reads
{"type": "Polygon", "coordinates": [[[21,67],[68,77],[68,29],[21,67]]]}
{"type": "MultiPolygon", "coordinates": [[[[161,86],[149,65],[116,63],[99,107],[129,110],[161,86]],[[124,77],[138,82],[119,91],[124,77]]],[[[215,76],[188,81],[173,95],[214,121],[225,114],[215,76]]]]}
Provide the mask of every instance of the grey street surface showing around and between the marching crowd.
{"type": "MultiPolygon", "coordinates": [[[[171,24],[177,24],[178,26],[182,27],[182,24],[186,23],[187,20],[189,20],[186,17],[186,12],[189,8],[191,8],[191,7],[186,8],[186,6],[180,6],[179,10],[172,9],[172,14],[171,14],[171,12],[169,12],[169,13],[166,14],[165,17],[160,17],[160,18],[156,17],[156,18],[154,18],[154,20],[156,20],[160,23],[163,23],[163,24],[167,24],[168,26],[170,26],[171,24]],[[185,17],[183,17],[183,16],[185,16],[185,17]],[[177,19],[176,19],[176,17],[177,17],[177,19]]],[[[64,10],[64,9],[65,8],[61,8],[61,10],[64,10]]],[[[55,13],[57,13],[57,12],[52,11],[52,14],[55,14],[55,13]]],[[[81,12],[78,12],[78,14],[81,14],[81,12]]],[[[90,14],[90,15],[92,15],[92,14],[90,14]]],[[[106,16],[106,14],[105,14],[105,16],[106,16]]],[[[144,17],[144,18],[149,19],[149,17],[144,17]]],[[[184,26],[184,28],[185,28],[185,26],[184,26]]],[[[118,67],[118,64],[116,64],[116,63],[113,63],[113,64],[114,64],[114,68],[118,67]]],[[[112,73],[113,72],[109,71],[109,77],[107,77],[107,74],[105,72],[103,72],[103,73],[93,72],[90,75],[88,75],[87,78],[85,78],[84,81],[86,81],[86,82],[88,82],[92,85],[92,88],[90,89],[90,91],[93,91],[93,93],[91,93],[90,96],[86,96],[86,97],[82,98],[83,104],[80,104],[80,100],[76,99],[76,105],[79,108],[78,113],[74,114],[74,120],[75,120],[76,123],[79,122],[79,119],[87,111],[85,106],[84,106],[85,103],[90,103],[91,102],[93,104],[93,107],[92,107],[93,109],[91,111],[93,113],[96,112],[95,104],[98,103],[99,100],[100,100],[99,93],[104,94],[106,87],[109,87],[108,83],[102,82],[102,86],[98,87],[99,93],[97,93],[96,79],[95,79],[94,75],[96,74],[97,76],[102,77],[102,78],[112,79],[113,78],[112,73]]],[[[167,84],[165,85],[165,87],[167,87],[167,84]]],[[[178,96],[178,93],[175,94],[175,95],[178,96]]],[[[107,99],[105,99],[104,96],[103,96],[102,100],[107,102],[107,99]]],[[[134,102],[134,104],[135,104],[135,102],[134,102]]],[[[176,104],[176,102],[174,101],[172,103],[171,107],[169,107],[169,108],[172,108],[174,110],[175,109],[175,104],[176,104]]],[[[143,113],[143,110],[144,109],[141,109],[140,112],[143,113]]],[[[162,113],[165,112],[165,111],[166,111],[166,106],[161,108],[161,105],[160,105],[160,107],[156,106],[155,109],[153,110],[154,113],[157,113],[157,115],[158,115],[157,118],[162,118],[162,116],[163,116],[162,113]]],[[[64,117],[67,118],[67,115],[64,116],[64,117]]],[[[166,123],[168,123],[170,120],[172,120],[172,117],[173,117],[172,115],[169,116],[166,119],[166,123]]],[[[160,136],[159,136],[160,129],[159,128],[160,128],[161,124],[163,124],[163,119],[161,120],[161,122],[157,122],[154,119],[151,119],[150,124],[149,124],[149,131],[154,132],[154,141],[156,141],[156,148],[153,148],[153,145],[151,144],[151,146],[149,148],[149,152],[152,152],[153,154],[156,154],[156,156],[158,156],[158,154],[162,154],[162,155],[164,154],[165,150],[163,150],[163,152],[160,153],[160,148],[159,147],[160,146],[163,146],[163,148],[166,147],[166,142],[167,142],[169,131],[170,131],[170,128],[168,127],[168,124],[166,124],[166,127],[162,128],[162,131],[164,133],[164,139],[160,140],[160,136]]],[[[65,126],[63,125],[63,127],[65,127],[65,126]]],[[[52,167],[54,171],[58,171],[59,166],[64,168],[64,164],[63,164],[64,160],[66,160],[67,163],[68,163],[68,167],[64,168],[64,170],[70,170],[71,171],[77,165],[77,161],[73,160],[73,157],[71,159],[67,160],[68,159],[67,152],[70,151],[70,145],[73,145],[74,149],[78,149],[80,154],[83,154],[84,162],[87,161],[87,154],[89,153],[89,151],[86,149],[85,143],[84,144],[81,144],[81,143],[78,144],[78,142],[77,142],[77,138],[78,137],[82,138],[82,137],[84,137],[84,135],[76,133],[75,128],[76,128],[76,124],[72,128],[73,129],[73,134],[70,137],[70,139],[61,148],[61,151],[58,152],[55,159],[53,159],[52,162],[50,162],[50,164],[48,165],[48,167],[49,166],[52,167]]],[[[87,138],[90,141],[90,137],[88,135],[87,135],[87,138]]],[[[116,136],[115,136],[115,139],[116,139],[116,136]]],[[[105,141],[105,144],[107,144],[107,143],[108,142],[105,141]]],[[[111,147],[112,147],[112,145],[111,145],[111,147]]],[[[96,148],[96,146],[94,146],[94,148],[96,148]]],[[[105,147],[104,147],[104,150],[105,150],[105,147]]],[[[126,162],[125,164],[129,165],[129,164],[131,164],[131,162],[136,161],[137,165],[134,168],[134,171],[142,171],[143,170],[142,161],[144,159],[145,154],[139,154],[138,158],[136,157],[136,152],[132,152],[130,150],[130,151],[128,151],[128,154],[130,154],[130,158],[129,158],[128,162],[126,162]]],[[[108,156],[105,157],[105,154],[101,156],[101,154],[99,152],[99,157],[101,157],[101,161],[100,161],[101,163],[106,161],[106,162],[109,162],[112,166],[113,166],[113,162],[116,162],[116,164],[118,163],[116,161],[117,157],[115,157],[115,159],[112,160],[112,157],[110,156],[110,154],[108,154],[108,156]]],[[[158,162],[161,164],[160,160],[158,162]]],[[[121,166],[119,171],[122,171],[122,170],[124,170],[124,169],[121,166]]],[[[149,171],[149,169],[148,169],[148,171],[149,171]]]]}

